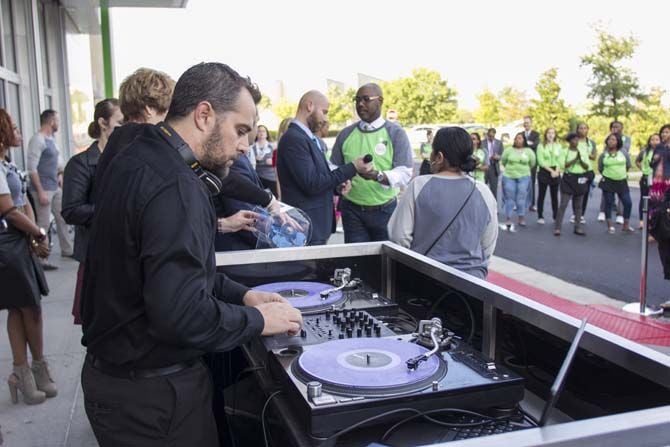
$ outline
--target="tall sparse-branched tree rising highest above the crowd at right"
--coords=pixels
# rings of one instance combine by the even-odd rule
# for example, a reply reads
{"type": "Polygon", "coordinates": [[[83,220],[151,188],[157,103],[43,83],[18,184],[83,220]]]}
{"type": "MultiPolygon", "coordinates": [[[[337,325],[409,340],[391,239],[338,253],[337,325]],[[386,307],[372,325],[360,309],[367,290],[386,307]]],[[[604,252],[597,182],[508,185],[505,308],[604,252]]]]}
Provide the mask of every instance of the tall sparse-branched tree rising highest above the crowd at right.
{"type": "Polygon", "coordinates": [[[596,28],[598,48],[595,53],[582,56],[581,65],[591,68],[588,98],[594,102],[591,114],[618,120],[638,110],[638,103],[646,99],[637,76],[622,62],[635,54],[635,37],[616,37],[596,28]]]}

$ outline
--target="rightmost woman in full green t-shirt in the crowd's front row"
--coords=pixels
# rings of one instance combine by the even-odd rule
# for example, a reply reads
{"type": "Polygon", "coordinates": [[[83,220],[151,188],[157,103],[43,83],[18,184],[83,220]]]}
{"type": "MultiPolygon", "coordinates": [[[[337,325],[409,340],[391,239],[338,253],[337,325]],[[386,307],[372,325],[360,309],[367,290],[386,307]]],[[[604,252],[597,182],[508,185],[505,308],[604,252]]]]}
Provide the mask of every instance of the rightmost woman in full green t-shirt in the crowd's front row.
{"type": "Polygon", "coordinates": [[[607,232],[614,234],[615,231],[612,225],[612,208],[614,207],[614,195],[616,194],[623,203],[623,227],[621,231],[632,233],[634,230],[630,227],[630,212],[633,203],[628,189],[630,156],[628,152],[621,150],[623,140],[617,134],[609,134],[605,144],[605,152],[600,154],[600,158],[598,158],[598,169],[602,174],[598,187],[603,190],[603,196],[605,197],[607,232]]]}

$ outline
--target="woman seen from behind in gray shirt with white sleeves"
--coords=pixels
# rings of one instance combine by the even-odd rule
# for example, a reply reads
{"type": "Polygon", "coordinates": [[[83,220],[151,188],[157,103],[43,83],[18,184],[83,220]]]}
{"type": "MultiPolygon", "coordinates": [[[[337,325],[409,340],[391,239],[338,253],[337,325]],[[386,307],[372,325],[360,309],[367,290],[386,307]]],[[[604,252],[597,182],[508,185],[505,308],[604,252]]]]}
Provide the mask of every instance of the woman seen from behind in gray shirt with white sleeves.
{"type": "Polygon", "coordinates": [[[431,175],[415,177],[388,224],[391,241],[478,278],[486,278],[498,238],[496,201],[467,173],[472,140],[460,127],[437,131],[431,175]]]}

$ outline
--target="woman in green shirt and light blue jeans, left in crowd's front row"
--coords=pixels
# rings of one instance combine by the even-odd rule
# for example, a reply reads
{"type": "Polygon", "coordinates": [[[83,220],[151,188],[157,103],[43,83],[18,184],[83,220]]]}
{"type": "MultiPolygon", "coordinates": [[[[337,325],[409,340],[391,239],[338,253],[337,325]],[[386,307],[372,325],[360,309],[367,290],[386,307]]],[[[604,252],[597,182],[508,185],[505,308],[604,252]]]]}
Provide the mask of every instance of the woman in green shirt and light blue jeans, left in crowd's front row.
{"type": "Polygon", "coordinates": [[[526,203],[529,193],[530,172],[535,166],[535,153],[524,145],[523,132],[514,137],[514,144],[503,152],[501,163],[505,168],[502,185],[505,199],[505,225],[503,230],[514,231],[512,213],[516,206],[519,226],[526,226],[526,203]]]}

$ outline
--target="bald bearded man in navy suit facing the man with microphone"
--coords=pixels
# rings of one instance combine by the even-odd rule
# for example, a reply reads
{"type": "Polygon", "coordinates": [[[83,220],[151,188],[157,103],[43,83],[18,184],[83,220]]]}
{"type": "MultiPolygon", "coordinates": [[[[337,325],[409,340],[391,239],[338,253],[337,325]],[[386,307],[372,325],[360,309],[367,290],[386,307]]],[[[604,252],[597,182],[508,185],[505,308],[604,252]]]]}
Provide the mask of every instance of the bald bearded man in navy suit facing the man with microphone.
{"type": "Polygon", "coordinates": [[[300,98],[298,112],[281,137],[277,151],[277,172],[282,201],[302,209],[312,220],[311,245],[323,245],[333,228],[335,188],[357,173],[368,173],[372,163],[358,157],[330,170],[314,135],[328,115],[329,102],[321,92],[309,91],[300,98]]]}

